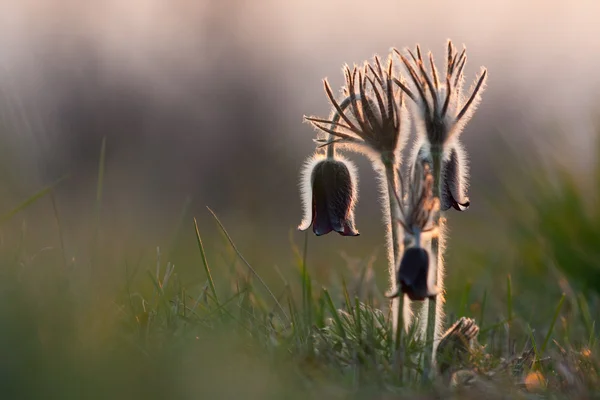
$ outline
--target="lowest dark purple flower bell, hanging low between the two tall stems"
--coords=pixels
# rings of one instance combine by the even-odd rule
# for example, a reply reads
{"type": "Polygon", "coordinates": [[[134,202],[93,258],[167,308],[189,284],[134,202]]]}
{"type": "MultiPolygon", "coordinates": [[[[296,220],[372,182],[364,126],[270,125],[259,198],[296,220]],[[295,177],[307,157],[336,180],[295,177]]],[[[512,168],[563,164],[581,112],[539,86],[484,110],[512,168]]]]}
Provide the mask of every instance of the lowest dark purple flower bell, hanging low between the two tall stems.
{"type": "Polygon", "coordinates": [[[437,293],[430,291],[427,285],[429,273],[429,254],[420,247],[406,249],[398,269],[400,290],[413,301],[422,301],[434,297],[437,293]]]}

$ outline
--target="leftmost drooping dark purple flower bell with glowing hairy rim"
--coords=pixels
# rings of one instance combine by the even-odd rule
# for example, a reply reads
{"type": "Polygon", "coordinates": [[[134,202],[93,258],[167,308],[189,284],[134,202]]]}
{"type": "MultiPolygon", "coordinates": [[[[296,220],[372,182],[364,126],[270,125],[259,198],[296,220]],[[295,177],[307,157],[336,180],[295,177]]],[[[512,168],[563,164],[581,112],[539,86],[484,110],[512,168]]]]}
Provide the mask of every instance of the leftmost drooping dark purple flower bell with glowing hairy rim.
{"type": "Polygon", "coordinates": [[[354,227],[356,183],[354,165],[346,159],[312,157],[302,170],[304,218],[298,229],[303,231],[312,225],[317,236],[331,231],[358,236],[354,227]]]}

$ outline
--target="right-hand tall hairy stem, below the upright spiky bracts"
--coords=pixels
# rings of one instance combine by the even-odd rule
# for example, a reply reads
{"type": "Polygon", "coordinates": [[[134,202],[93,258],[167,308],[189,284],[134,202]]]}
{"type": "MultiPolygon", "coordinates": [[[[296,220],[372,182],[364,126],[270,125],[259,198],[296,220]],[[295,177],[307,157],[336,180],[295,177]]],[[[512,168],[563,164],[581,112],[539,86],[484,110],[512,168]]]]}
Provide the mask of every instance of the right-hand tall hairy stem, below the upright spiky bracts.
{"type": "MultiPolygon", "coordinates": [[[[437,147],[437,146],[436,146],[437,147]]],[[[432,147],[431,155],[433,161],[433,196],[438,199],[441,198],[441,190],[440,185],[442,181],[442,157],[443,151],[441,148],[432,147]]],[[[435,226],[435,231],[437,232],[431,238],[431,270],[430,274],[432,276],[430,284],[432,286],[437,286],[440,291],[443,291],[443,227],[441,226],[443,223],[443,218],[441,216],[441,211],[436,213],[433,219],[433,224],[435,226]]],[[[435,354],[437,348],[437,342],[439,339],[439,328],[442,325],[442,306],[443,306],[443,298],[438,299],[438,296],[430,298],[427,304],[427,326],[425,331],[425,344],[426,351],[425,357],[423,358],[423,378],[427,380],[430,378],[432,373],[432,367],[435,364],[435,354]],[[439,300],[439,301],[438,301],[439,300]]]]}

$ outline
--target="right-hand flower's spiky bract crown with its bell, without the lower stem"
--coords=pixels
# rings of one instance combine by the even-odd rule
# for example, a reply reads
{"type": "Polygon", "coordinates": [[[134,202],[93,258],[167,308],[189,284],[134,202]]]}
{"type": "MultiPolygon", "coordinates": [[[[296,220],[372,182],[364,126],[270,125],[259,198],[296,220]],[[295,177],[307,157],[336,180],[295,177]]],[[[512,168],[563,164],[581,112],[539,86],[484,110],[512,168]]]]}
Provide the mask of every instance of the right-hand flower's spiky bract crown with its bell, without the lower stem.
{"type": "Polygon", "coordinates": [[[448,41],[445,82],[440,82],[431,53],[430,71],[427,71],[419,46],[416,56],[407,49],[410,59],[398,50],[395,52],[409,73],[414,91],[400,80],[396,79],[395,83],[413,100],[419,117],[415,122],[418,138],[413,148],[413,162],[427,162],[432,166],[434,176],[437,175],[436,184],[439,184],[434,192],[439,193],[442,211],[450,207],[463,211],[470,202],[465,193],[468,186],[466,155],[458,137],[481,100],[487,70],[482,68],[467,97],[463,93],[465,49],[459,54],[448,41]]]}

